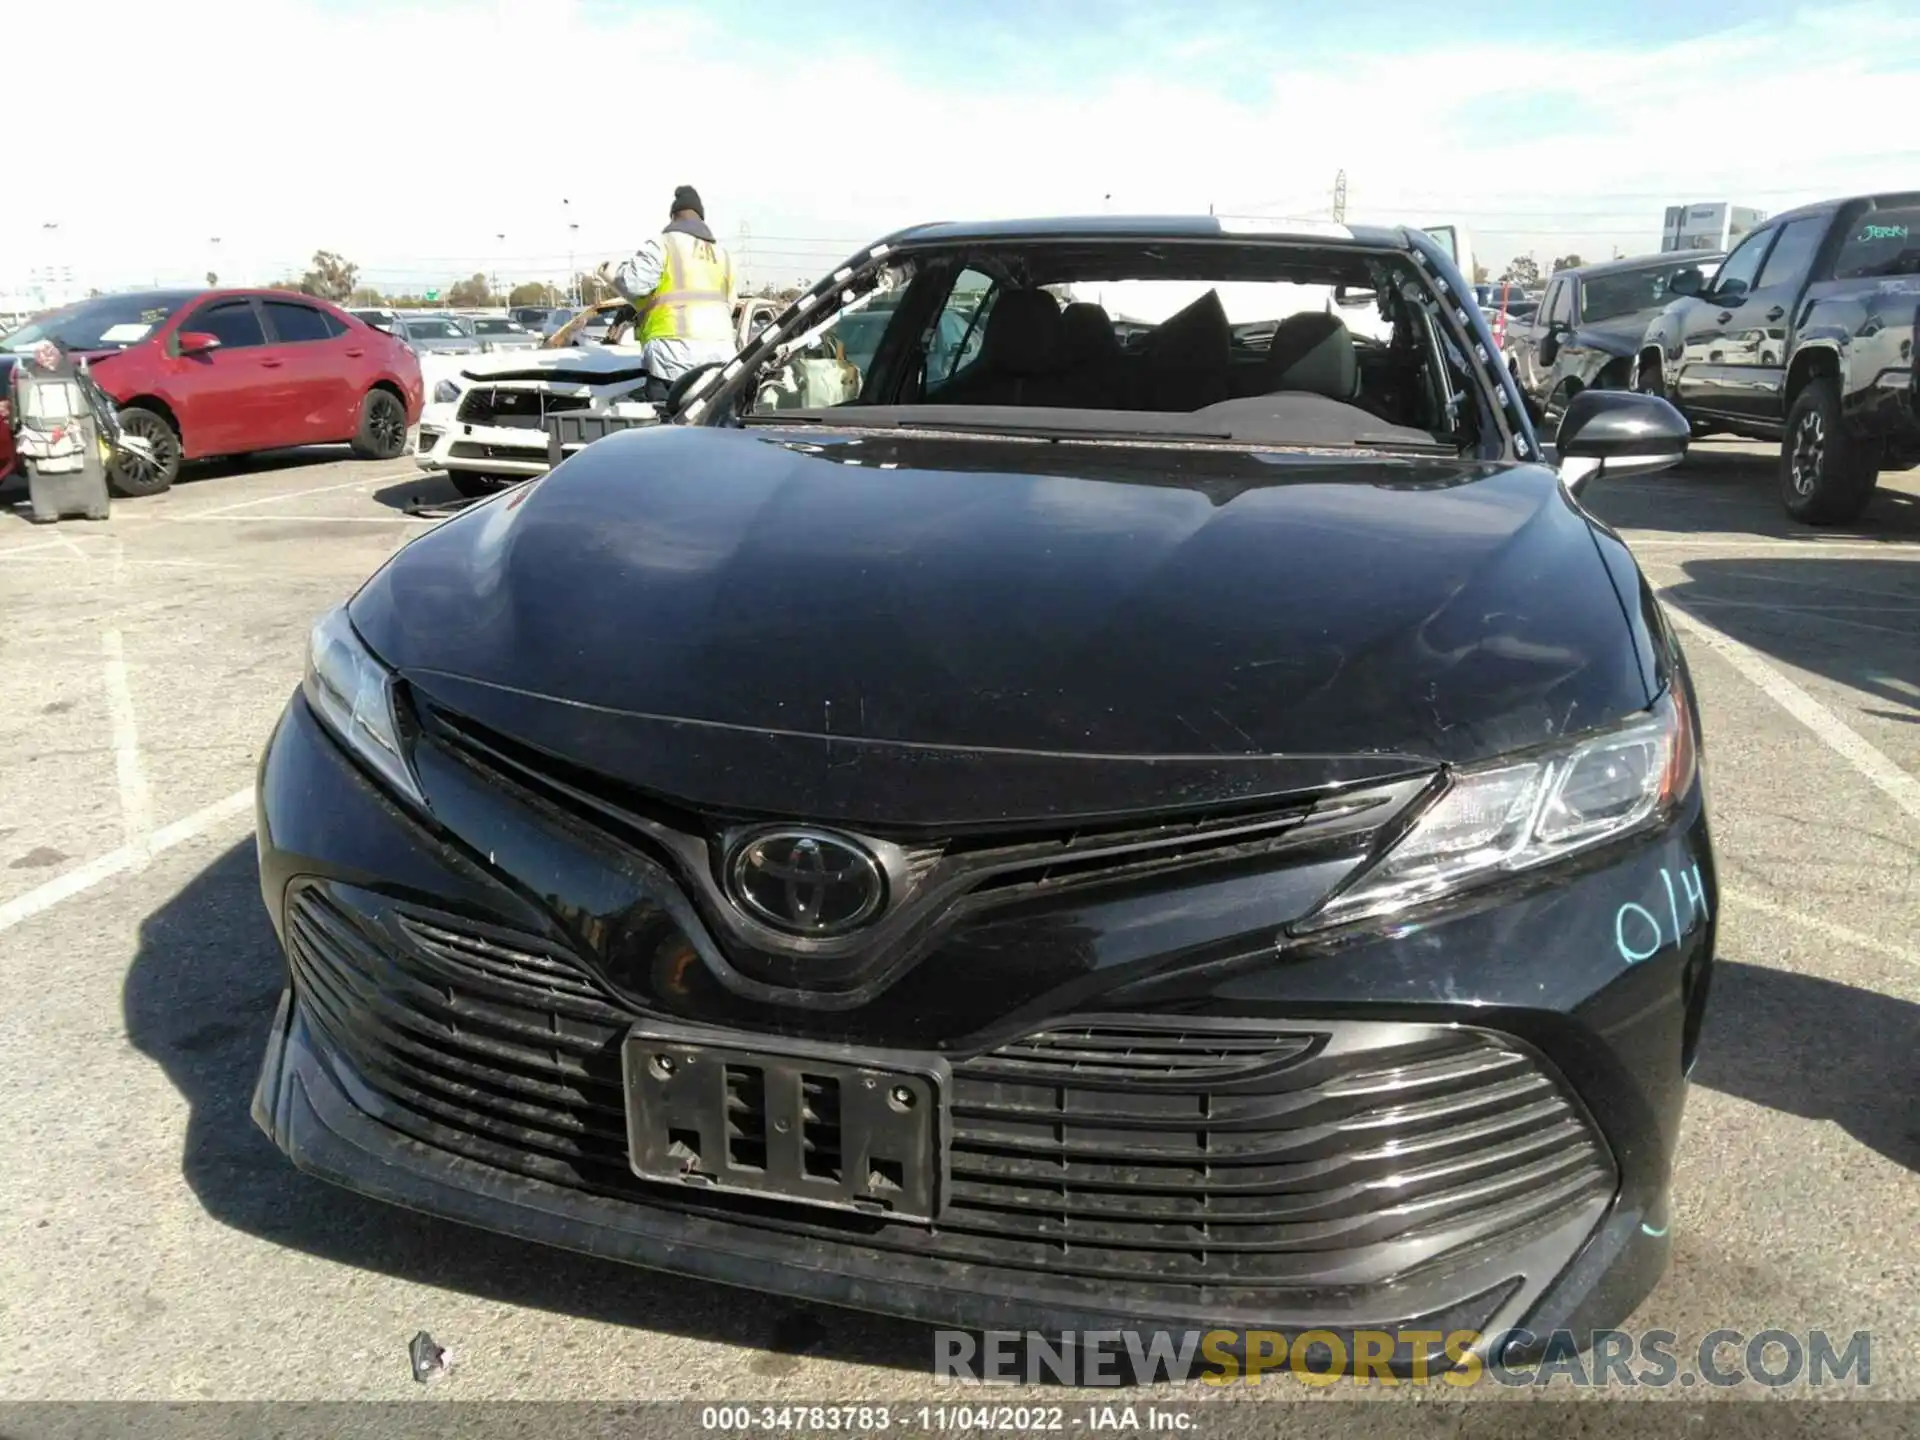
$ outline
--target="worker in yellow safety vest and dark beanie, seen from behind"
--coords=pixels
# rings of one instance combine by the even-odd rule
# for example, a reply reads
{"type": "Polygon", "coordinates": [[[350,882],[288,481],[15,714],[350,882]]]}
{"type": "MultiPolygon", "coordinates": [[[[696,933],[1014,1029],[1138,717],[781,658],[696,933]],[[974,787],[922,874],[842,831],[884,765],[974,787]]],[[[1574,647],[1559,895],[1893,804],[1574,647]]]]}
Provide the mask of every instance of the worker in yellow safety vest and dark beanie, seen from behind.
{"type": "MultiPolygon", "coordinates": [[[[601,267],[603,271],[607,267],[601,267]]],[[[607,275],[634,303],[634,338],[645,346],[647,399],[687,371],[733,359],[733,257],[707,228],[707,207],[691,184],[674,190],[660,234],[607,275]]]]}

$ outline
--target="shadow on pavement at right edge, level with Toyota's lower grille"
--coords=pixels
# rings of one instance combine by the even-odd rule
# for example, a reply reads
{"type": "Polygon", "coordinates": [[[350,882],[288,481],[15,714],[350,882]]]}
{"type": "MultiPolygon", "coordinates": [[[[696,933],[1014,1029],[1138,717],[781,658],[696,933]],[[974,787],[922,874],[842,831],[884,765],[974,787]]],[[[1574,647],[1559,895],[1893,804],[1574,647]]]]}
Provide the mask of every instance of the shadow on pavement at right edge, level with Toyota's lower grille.
{"type": "Polygon", "coordinates": [[[1818,975],[1720,960],[1693,1081],[1839,1125],[1920,1173],[1920,1004],[1818,975]]]}

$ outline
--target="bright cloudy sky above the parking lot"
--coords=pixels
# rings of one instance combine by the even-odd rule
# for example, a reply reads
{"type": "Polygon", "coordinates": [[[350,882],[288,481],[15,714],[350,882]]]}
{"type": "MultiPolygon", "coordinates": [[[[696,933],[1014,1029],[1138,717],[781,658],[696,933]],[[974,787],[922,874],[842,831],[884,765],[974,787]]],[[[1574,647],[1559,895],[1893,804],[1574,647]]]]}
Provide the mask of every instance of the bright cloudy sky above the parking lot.
{"type": "MultiPolygon", "coordinates": [[[[559,278],[676,184],[753,280],[929,219],[1463,223],[1498,273],[1668,204],[1920,188],[1920,4],[94,0],[46,108],[92,169],[0,202],[0,296],[559,278]],[[1524,17],[1524,27],[1519,19],[1524,17]],[[1832,102],[1828,108],[1822,102],[1832,102]]],[[[0,33],[65,27],[0,0],[0,33]]],[[[13,73],[15,102],[33,96],[13,73]]],[[[35,144],[44,121],[36,119],[35,144]]]]}

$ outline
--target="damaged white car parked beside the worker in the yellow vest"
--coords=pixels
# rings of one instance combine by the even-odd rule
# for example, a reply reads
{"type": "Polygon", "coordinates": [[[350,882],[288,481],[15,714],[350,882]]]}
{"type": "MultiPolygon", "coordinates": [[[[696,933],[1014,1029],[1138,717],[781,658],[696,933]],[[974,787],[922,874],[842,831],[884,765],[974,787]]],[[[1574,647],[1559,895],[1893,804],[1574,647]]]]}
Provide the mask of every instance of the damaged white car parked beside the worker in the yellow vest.
{"type": "MultiPolygon", "coordinates": [[[[442,470],[463,495],[484,495],[547,472],[549,415],[657,422],[659,413],[641,399],[647,388],[643,348],[618,334],[622,305],[595,307],[616,315],[612,344],[580,338],[595,319],[589,309],[553,336],[561,342],[557,348],[486,355],[468,361],[459,374],[430,382],[420,413],[420,468],[442,470]]],[[[776,311],[770,300],[739,301],[733,313],[737,344],[745,346],[776,311]]],[[[566,445],[568,451],[578,447],[566,445]]]]}

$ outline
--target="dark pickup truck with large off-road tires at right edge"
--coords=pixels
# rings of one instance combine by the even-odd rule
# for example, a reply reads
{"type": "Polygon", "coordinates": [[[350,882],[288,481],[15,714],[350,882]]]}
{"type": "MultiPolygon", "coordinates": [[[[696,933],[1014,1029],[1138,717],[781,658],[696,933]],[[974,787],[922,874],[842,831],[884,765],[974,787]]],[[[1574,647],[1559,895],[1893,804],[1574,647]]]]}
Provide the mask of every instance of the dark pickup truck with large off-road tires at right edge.
{"type": "Polygon", "coordinates": [[[1809,524],[1860,515],[1882,470],[1920,463],[1914,328],[1920,192],[1776,215],[1711,284],[1676,275],[1647,326],[1638,390],[1697,434],[1780,442],[1780,495],[1809,524]]]}

